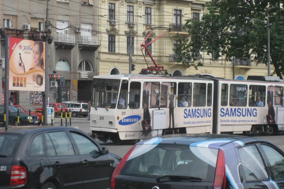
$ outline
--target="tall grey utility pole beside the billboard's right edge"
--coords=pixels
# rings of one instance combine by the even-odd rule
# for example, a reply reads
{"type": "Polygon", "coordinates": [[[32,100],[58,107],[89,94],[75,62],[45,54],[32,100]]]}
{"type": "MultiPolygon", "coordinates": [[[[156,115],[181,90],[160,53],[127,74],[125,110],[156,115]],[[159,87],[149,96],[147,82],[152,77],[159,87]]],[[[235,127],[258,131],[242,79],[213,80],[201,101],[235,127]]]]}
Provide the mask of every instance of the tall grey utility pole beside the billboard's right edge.
{"type": "Polygon", "coordinates": [[[45,40],[45,93],[43,95],[43,102],[42,102],[42,115],[43,115],[43,123],[42,125],[47,125],[47,109],[48,106],[48,94],[49,94],[49,44],[47,42],[48,39],[48,30],[49,30],[49,8],[48,8],[48,2],[50,0],[46,1],[46,21],[45,21],[45,34],[46,34],[46,40],[45,40]]]}

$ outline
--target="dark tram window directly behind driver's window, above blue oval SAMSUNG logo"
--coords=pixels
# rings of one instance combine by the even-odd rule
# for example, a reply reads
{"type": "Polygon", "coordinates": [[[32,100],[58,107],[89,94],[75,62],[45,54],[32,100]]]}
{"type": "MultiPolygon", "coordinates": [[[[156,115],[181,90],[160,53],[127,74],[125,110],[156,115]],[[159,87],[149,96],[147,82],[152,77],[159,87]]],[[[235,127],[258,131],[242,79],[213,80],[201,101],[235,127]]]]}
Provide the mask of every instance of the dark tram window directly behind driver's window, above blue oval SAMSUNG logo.
{"type": "Polygon", "coordinates": [[[131,82],[129,87],[129,108],[139,109],[140,108],[140,93],[141,93],[141,83],[131,82]]]}

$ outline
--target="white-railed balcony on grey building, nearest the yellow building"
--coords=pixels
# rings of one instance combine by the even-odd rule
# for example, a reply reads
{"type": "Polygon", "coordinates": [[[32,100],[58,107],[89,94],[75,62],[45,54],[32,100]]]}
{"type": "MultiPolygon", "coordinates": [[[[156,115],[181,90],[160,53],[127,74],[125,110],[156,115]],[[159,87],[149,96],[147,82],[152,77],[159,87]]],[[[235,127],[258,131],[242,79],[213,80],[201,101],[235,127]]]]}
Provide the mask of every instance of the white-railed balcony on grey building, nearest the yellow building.
{"type": "Polygon", "coordinates": [[[99,47],[99,38],[95,36],[80,36],[78,47],[82,51],[96,51],[99,47]]]}

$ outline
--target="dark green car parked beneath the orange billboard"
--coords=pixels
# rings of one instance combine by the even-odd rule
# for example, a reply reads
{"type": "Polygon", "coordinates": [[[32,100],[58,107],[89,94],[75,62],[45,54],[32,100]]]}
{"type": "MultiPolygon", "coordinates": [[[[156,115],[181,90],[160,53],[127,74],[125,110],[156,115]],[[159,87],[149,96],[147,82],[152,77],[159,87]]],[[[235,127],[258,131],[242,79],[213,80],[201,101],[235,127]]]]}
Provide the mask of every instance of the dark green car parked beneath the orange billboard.
{"type": "MultiPolygon", "coordinates": [[[[31,125],[38,125],[40,119],[38,116],[31,115],[31,125]]],[[[15,106],[9,106],[9,120],[8,124],[12,126],[29,125],[29,114],[19,112],[19,123],[18,123],[18,108],[15,106]]],[[[4,125],[4,105],[0,105],[0,125],[4,125]]],[[[1,164],[1,162],[0,162],[1,164]]]]}

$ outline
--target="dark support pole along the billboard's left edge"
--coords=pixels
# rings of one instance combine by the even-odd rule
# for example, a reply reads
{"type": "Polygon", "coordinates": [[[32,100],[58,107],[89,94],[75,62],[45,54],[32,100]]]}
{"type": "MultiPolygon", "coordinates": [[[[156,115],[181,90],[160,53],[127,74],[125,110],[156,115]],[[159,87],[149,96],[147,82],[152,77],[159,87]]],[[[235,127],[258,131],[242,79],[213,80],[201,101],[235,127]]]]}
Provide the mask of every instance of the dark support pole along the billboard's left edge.
{"type": "Polygon", "coordinates": [[[9,43],[10,37],[5,36],[5,90],[4,90],[4,121],[5,130],[9,125],[9,43]]]}

